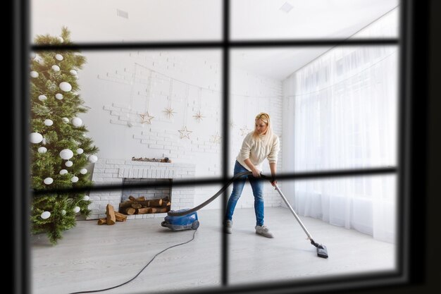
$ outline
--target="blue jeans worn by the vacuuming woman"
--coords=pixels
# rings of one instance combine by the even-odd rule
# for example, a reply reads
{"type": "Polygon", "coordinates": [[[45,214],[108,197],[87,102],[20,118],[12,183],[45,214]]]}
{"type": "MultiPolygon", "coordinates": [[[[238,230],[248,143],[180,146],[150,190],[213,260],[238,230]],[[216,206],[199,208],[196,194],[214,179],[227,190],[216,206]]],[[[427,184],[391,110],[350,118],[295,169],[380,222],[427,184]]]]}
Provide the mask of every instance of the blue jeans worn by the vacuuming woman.
{"type": "MultiPolygon", "coordinates": [[[[243,173],[244,171],[248,170],[236,161],[234,171],[235,175],[237,173],[243,173]]],[[[232,220],[232,214],[235,211],[237,200],[239,200],[240,195],[242,195],[242,190],[244,190],[244,185],[247,177],[249,183],[251,184],[251,189],[253,190],[254,195],[254,212],[256,213],[256,226],[263,226],[263,180],[258,180],[254,178],[253,175],[241,176],[233,182],[230,199],[228,199],[227,214],[225,215],[225,220],[232,220]]]]}

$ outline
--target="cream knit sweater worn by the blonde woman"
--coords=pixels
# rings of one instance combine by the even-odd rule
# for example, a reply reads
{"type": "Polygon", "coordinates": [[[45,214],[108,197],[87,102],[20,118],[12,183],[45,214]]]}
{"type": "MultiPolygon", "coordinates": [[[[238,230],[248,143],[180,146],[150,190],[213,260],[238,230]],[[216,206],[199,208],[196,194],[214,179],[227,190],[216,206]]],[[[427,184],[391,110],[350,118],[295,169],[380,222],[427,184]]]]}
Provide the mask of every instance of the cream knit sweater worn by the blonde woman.
{"type": "Polygon", "coordinates": [[[247,164],[245,164],[245,159],[249,159],[256,169],[262,170],[262,162],[266,158],[270,164],[277,163],[278,152],[280,150],[279,137],[272,134],[271,138],[266,139],[266,135],[259,135],[259,138],[253,137],[254,131],[248,133],[242,142],[242,148],[237,155],[236,159],[239,161],[245,169],[251,171],[247,164]]]}

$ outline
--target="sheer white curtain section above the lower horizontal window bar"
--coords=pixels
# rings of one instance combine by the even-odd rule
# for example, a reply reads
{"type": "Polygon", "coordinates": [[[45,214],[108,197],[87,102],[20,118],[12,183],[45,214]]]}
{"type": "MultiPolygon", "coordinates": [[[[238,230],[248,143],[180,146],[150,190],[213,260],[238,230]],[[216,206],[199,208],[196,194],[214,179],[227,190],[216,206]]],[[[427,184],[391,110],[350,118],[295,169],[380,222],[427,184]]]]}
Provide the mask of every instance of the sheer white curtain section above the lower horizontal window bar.
{"type": "Polygon", "coordinates": [[[335,48],[287,79],[295,171],[397,164],[398,56],[335,48]]]}

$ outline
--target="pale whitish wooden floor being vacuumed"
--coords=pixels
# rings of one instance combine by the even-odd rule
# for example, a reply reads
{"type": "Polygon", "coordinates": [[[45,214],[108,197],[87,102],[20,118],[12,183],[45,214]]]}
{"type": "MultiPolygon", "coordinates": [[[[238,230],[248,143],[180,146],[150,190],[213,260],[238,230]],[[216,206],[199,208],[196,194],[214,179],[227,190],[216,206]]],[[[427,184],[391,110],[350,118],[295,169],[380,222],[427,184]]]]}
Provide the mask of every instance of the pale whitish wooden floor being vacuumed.
{"type": "MultiPolygon", "coordinates": [[[[266,208],[266,225],[275,238],[254,233],[254,209],[236,209],[229,235],[231,285],[361,274],[395,269],[395,245],[371,236],[302,218],[329,258],[316,255],[294,216],[285,208],[266,208]]],[[[221,212],[198,212],[201,226],[191,243],[156,257],[134,281],[101,293],[168,293],[221,286],[221,212]]],[[[51,246],[44,235],[31,239],[34,294],[98,290],[128,281],[156,253],[192,238],[194,231],[170,231],[163,219],[134,219],[115,226],[78,221],[51,246]]]]}

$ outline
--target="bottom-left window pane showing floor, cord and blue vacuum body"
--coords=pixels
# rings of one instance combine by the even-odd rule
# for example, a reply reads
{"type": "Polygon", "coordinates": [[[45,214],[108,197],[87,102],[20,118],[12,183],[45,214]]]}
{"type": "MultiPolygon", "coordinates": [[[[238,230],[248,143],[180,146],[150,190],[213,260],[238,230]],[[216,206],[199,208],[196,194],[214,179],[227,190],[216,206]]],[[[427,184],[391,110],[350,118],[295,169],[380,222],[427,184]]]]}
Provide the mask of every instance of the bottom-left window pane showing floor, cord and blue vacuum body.
{"type": "MultiPolygon", "coordinates": [[[[165,188],[170,186],[156,187],[156,192],[163,195],[165,188]]],[[[213,187],[213,190],[218,189],[213,187]]],[[[87,193],[89,199],[75,193],[38,198],[32,202],[31,214],[34,231],[30,238],[32,293],[73,293],[118,286],[134,278],[159,252],[171,246],[174,247],[158,255],[135,280],[113,291],[158,293],[221,286],[220,215],[211,210],[198,212],[201,222],[198,231],[192,229],[197,223],[192,218],[185,219],[184,224],[172,223],[175,229],[187,228],[182,231],[172,231],[161,225],[167,216],[161,209],[192,207],[186,197],[194,195],[194,190],[190,186],[173,186],[168,195],[171,205],[164,202],[161,207],[157,201],[152,204],[151,197],[154,200],[163,197],[154,196],[155,189],[151,186],[123,191],[95,190],[87,193]],[[136,201],[142,207],[128,214],[126,202],[129,200],[123,200],[128,193],[150,201],[136,201]],[[108,204],[121,213],[113,225],[106,221],[108,204]],[[91,214],[85,220],[80,215],[87,207],[91,214]],[[96,211],[99,214],[95,214],[96,211]],[[104,219],[99,221],[101,218],[104,219]],[[62,238],[51,245],[47,234],[56,235],[56,229],[62,238]],[[190,243],[175,247],[190,240],[190,243]]]]}

